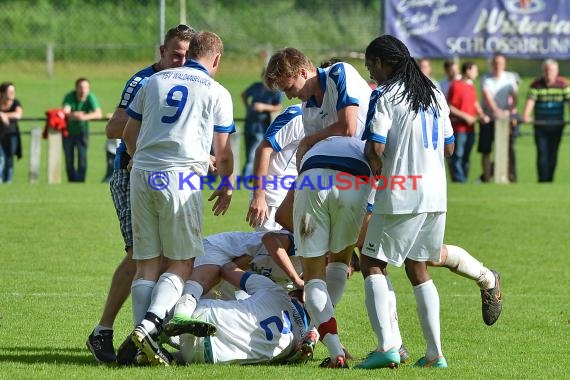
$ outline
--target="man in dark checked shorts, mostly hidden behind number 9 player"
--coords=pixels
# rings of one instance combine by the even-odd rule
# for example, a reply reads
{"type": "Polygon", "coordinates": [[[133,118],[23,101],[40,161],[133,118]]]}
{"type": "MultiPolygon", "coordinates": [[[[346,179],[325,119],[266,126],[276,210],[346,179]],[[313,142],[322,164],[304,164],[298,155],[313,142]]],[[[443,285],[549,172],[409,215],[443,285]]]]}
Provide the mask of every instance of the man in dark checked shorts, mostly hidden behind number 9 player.
{"type": "MultiPolygon", "coordinates": [[[[105,129],[108,138],[117,139],[123,137],[123,129],[128,119],[126,109],[141,88],[141,81],[144,78],[161,70],[180,67],[184,64],[188,54],[190,37],[194,32],[194,29],[183,24],[170,28],[166,32],[164,44],[159,48],[160,60],[138,71],[126,82],[119,105],[105,129]]],[[[95,360],[105,363],[114,362],[117,359],[117,361],[121,362],[120,364],[125,364],[125,359],[127,361],[132,360],[132,356],[117,358],[113,347],[113,324],[119,310],[131,292],[131,283],[136,270],[135,261],[133,260],[133,232],[131,228],[131,202],[129,199],[130,174],[127,169],[130,159],[125,143],[121,141],[117,148],[110,188],[113,204],[119,217],[121,234],[125,242],[126,255],[113,274],[99,324],[95,326],[87,338],[87,347],[95,360]]],[[[130,342],[130,339],[128,342],[130,342]]]]}

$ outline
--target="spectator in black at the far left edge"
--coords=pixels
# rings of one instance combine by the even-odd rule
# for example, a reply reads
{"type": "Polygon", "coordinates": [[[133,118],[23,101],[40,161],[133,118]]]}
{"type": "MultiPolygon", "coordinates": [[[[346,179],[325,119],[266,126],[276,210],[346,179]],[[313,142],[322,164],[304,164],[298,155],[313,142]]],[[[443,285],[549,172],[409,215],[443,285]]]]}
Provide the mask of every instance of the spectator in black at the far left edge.
{"type": "Polygon", "coordinates": [[[18,120],[22,105],[16,99],[12,82],[0,84],[0,183],[11,183],[14,177],[14,156],[22,158],[18,120]]]}

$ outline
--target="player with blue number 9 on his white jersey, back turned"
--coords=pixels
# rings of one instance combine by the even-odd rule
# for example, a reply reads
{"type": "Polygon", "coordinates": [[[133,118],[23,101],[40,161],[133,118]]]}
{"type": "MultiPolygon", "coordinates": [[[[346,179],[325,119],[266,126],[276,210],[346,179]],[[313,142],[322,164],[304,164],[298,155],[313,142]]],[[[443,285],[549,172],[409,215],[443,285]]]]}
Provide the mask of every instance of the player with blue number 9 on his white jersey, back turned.
{"type": "Polygon", "coordinates": [[[182,294],[194,258],[203,255],[199,176],[207,173],[212,142],[218,174],[229,179],[210,197],[214,214],[224,214],[231,201],[233,104],[230,93],[213,79],[222,52],[216,34],[194,34],[188,62],[151,76],[127,109],[123,138],[133,157],[137,262],[132,299],[138,325],[132,340],[151,363],[168,362],[155,338],[166,310],[182,294]]]}

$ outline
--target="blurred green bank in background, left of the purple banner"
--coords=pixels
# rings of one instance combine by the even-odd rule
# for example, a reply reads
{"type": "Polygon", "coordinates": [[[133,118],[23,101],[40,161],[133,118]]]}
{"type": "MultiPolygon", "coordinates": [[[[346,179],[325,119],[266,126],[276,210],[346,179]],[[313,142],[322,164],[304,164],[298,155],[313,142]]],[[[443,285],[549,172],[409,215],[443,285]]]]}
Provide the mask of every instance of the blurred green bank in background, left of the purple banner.
{"type": "MultiPolygon", "coordinates": [[[[158,0],[4,0],[3,60],[153,59],[159,39],[158,0]]],[[[165,25],[179,20],[179,1],[166,0],[165,25]]],[[[226,51],[295,46],[306,51],[362,51],[378,35],[377,0],[186,1],[187,23],[212,30],[226,51]]]]}

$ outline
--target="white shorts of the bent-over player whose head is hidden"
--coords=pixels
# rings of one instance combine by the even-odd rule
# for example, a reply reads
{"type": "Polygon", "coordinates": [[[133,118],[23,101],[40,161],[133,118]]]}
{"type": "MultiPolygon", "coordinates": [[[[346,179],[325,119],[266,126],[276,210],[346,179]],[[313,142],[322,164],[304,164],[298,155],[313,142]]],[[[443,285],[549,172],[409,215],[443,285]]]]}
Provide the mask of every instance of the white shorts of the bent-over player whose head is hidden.
{"type": "Polygon", "coordinates": [[[295,190],[293,226],[297,256],[319,257],[328,251],[339,253],[358,240],[370,185],[360,183],[357,186],[356,178],[348,174],[338,183],[338,173],[333,169],[309,169],[297,178],[297,184],[310,180],[315,185],[315,190],[307,187],[295,190]],[[322,187],[328,187],[329,179],[333,186],[320,190],[319,181],[322,187]],[[347,185],[348,180],[353,181],[351,186],[347,185]]]}

